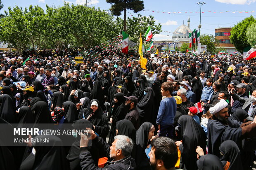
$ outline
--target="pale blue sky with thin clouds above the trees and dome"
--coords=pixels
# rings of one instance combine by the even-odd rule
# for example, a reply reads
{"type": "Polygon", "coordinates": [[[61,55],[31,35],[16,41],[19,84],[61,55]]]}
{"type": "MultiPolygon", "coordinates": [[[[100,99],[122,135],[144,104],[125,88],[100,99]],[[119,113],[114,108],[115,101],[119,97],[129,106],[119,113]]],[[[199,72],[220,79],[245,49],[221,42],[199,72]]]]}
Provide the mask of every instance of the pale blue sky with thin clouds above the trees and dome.
{"type": "MultiPolygon", "coordinates": [[[[69,0],[73,4],[84,4],[86,0],[69,0]]],[[[193,30],[199,25],[200,5],[197,2],[205,2],[202,5],[201,13],[201,33],[214,34],[215,28],[232,27],[237,22],[250,15],[256,18],[256,0],[144,0],[145,10],[139,12],[142,16],[154,16],[156,22],[162,24],[162,30],[159,35],[154,35],[154,40],[171,39],[173,31],[178,26],[187,25],[187,19],[190,16],[190,29],[193,30]],[[155,11],[155,12],[152,12],[155,11]],[[230,11],[230,12],[226,12],[230,11]],[[248,13],[245,13],[248,11],[248,13]],[[167,13],[163,13],[167,12],[167,13]],[[171,12],[171,14],[168,14],[171,12]],[[172,12],[176,12],[173,14],[172,12]],[[178,13],[181,12],[181,13],[178,13]],[[187,13],[185,13],[187,12],[187,13]],[[190,13],[193,12],[193,13],[190,13]],[[211,13],[209,13],[211,12],[211,13]],[[216,12],[216,13],[213,13],[216,12]],[[223,12],[223,13],[220,13],[223,12]],[[235,12],[235,13],[232,13],[235,12]],[[242,13],[239,13],[242,12],[242,13]]],[[[0,13],[8,10],[8,7],[28,7],[29,5],[39,5],[45,9],[45,5],[62,6],[63,0],[2,0],[4,5],[0,13]]],[[[105,0],[88,0],[89,6],[100,7],[100,9],[109,9],[110,4],[105,0]]],[[[133,11],[128,11],[127,16],[137,16],[133,11]]],[[[123,15],[122,15],[123,17],[123,15]]]]}

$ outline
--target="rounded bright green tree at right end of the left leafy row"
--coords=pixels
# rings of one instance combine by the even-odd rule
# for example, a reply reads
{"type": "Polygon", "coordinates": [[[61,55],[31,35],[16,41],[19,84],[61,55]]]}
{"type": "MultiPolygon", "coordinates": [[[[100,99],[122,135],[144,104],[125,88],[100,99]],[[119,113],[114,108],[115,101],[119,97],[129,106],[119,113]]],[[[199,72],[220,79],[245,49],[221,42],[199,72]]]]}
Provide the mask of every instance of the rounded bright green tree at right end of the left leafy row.
{"type": "Polygon", "coordinates": [[[84,5],[64,5],[68,21],[66,28],[76,39],[77,44],[81,44],[85,49],[106,42],[119,34],[114,16],[104,10],[95,7],[85,7],[84,5]]]}

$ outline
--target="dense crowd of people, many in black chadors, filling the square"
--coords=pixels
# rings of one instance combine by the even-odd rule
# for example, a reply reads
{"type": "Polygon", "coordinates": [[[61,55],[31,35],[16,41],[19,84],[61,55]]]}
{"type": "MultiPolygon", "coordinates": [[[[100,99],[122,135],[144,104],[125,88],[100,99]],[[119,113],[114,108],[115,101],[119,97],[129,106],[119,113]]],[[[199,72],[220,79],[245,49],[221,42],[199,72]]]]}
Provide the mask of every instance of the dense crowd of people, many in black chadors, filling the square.
{"type": "Polygon", "coordinates": [[[252,169],[254,60],[145,54],[143,69],[137,54],[118,51],[78,63],[80,52],[0,54],[1,123],[71,123],[90,134],[73,135],[70,147],[54,135],[49,147],[0,146],[1,170],[252,169]],[[103,157],[108,161],[99,168],[103,157]]]}

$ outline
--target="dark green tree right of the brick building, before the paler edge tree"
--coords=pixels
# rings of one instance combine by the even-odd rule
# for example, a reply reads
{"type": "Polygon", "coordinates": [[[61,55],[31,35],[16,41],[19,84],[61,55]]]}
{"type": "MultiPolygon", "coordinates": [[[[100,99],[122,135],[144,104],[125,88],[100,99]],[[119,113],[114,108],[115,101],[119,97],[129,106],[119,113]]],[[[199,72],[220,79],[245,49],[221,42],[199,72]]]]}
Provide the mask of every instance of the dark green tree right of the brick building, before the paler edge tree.
{"type": "Polygon", "coordinates": [[[248,37],[246,36],[247,28],[255,22],[256,19],[250,16],[245,18],[242,22],[237,23],[231,30],[230,41],[240,53],[243,53],[244,49],[250,45],[248,37]]]}

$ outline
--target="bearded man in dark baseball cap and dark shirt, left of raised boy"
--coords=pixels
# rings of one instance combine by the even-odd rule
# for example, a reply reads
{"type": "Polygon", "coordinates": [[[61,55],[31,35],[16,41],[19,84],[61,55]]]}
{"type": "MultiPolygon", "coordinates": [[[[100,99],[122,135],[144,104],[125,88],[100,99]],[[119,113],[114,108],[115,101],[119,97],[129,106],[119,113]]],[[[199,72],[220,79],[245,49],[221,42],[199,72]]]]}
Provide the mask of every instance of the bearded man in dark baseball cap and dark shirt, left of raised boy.
{"type": "Polygon", "coordinates": [[[131,121],[135,129],[138,130],[138,128],[140,128],[140,114],[136,107],[138,99],[134,95],[131,95],[129,97],[123,97],[126,98],[125,106],[128,109],[128,113],[126,114],[126,117],[124,119],[131,121]]]}

